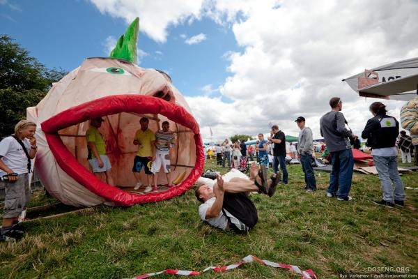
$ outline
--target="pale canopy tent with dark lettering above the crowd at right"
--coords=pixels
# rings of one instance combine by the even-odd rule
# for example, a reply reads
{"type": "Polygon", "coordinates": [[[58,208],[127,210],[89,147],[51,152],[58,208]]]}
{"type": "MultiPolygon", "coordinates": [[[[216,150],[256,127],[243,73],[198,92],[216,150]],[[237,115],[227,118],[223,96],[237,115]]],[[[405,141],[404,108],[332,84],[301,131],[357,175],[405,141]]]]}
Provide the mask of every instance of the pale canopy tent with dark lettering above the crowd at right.
{"type": "Polygon", "coordinates": [[[365,70],[343,81],[362,97],[411,100],[418,90],[418,57],[365,70]]]}

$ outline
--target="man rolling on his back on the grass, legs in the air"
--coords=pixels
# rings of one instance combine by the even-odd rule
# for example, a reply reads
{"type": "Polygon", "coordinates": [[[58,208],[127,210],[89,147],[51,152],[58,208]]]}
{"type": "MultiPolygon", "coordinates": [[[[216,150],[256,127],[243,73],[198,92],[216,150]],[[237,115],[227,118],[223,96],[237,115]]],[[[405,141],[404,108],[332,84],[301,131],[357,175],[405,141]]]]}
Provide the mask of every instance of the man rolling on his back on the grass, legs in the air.
{"type": "Polygon", "coordinates": [[[243,234],[254,227],[258,221],[257,209],[247,193],[264,193],[269,197],[274,195],[279,176],[267,179],[267,168],[262,165],[258,171],[256,164],[251,165],[251,180],[233,178],[224,182],[217,176],[217,183],[210,188],[203,185],[196,189],[196,199],[199,206],[199,216],[203,221],[219,229],[232,229],[243,234]]]}

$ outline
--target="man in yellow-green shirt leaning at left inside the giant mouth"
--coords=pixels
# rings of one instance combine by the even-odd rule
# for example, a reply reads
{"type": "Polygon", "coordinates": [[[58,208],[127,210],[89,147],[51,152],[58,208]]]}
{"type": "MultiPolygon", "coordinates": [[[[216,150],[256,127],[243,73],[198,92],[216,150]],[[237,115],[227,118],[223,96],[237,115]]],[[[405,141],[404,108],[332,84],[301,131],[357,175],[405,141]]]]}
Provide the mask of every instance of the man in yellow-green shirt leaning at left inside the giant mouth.
{"type": "Polygon", "coordinates": [[[86,141],[88,148],[88,163],[91,165],[91,169],[95,176],[103,180],[103,175],[106,176],[106,183],[114,185],[114,181],[111,177],[111,165],[109,158],[106,155],[106,146],[102,133],[98,130],[102,126],[104,120],[99,117],[91,119],[90,128],[86,132],[86,141]]]}

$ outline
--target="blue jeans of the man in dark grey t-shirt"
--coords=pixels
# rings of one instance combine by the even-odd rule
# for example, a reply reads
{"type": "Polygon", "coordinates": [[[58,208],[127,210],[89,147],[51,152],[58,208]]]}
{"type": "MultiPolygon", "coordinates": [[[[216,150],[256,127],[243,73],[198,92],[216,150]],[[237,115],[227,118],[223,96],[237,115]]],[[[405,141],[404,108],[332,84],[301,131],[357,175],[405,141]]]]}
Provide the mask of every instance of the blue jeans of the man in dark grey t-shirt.
{"type": "Polygon", "coordinates": [[[351,179],[353,179],[354,158],[351,149],[331,152],[332,172],[328,193],[337,197],[347,197],[350,193],[351,179]]]}

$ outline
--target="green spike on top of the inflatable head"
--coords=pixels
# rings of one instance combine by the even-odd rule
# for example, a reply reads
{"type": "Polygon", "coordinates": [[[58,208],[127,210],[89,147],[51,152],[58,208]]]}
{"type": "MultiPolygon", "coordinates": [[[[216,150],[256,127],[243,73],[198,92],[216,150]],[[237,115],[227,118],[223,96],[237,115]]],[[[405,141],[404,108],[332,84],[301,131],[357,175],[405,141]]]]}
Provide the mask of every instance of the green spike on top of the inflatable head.
{"type": "Polygon", "coordinates": [[[119,37],[118,43],[110,52],[109,57],[126,59],[136,64],[138,31],[139,17],[130,24],[125,34],[119,37]]]}

